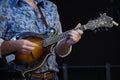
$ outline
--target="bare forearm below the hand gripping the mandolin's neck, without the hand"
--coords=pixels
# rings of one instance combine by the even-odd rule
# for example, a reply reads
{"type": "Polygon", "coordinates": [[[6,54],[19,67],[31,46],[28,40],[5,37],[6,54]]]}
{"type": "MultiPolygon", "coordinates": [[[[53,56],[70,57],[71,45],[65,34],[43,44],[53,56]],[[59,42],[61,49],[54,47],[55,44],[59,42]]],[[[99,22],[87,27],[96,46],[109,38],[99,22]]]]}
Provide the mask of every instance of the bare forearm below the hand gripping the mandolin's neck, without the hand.
{"type": "Polygon", "coordinates": [[[55,48],[55,52],[59,56],[65,57],[71,52],[71,49],[72,49],[72,45],[66,43],[66,40],[62,40],[60,41],[60,43],[57,44],[55,48]]]}

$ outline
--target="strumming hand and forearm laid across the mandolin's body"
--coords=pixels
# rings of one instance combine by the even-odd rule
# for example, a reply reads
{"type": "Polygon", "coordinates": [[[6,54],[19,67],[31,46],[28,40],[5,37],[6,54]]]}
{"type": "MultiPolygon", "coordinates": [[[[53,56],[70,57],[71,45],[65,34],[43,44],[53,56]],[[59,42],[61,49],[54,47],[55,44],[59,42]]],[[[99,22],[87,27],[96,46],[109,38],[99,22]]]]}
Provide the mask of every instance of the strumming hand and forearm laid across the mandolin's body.
{"type": "Polygon", "coordinates": [[[37,44],[24,40],[11,40],[11,41],[4,41],[1,45],[1,52],[3,55],[9,54],[12,52],[15,53],[31,53],[31,51],[38,46],[37,44]]]}

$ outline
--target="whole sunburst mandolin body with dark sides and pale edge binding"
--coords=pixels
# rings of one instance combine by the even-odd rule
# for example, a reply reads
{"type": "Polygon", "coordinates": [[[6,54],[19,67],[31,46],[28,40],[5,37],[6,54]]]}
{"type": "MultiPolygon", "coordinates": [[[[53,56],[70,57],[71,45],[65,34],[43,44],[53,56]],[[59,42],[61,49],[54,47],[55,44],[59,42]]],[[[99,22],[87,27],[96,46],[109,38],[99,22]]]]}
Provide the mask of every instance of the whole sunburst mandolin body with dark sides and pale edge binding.
{"type": "Polygon", "coordinates": [[[46,39],[47,36],[34,33],[34,32],[24,32],[20,33],[16,36],[14,36],[11,40],[18,40],[18,39],[26,39],[33,43],[36,43],[38,46],[36,46],[32,52],[30,53],[21,53],[16,52],[15,55],[15,63],[19,67],[17,67],[17,71],[20,71],[22,73],[22,76],[25,76],[25,74],[34,72],[38,69],[41,69],[41,67],[44,66],[47,59],[50,55],[53,55],[51,52],[55,46],[55,44],[44,46],[44,39],[46,39]]]}

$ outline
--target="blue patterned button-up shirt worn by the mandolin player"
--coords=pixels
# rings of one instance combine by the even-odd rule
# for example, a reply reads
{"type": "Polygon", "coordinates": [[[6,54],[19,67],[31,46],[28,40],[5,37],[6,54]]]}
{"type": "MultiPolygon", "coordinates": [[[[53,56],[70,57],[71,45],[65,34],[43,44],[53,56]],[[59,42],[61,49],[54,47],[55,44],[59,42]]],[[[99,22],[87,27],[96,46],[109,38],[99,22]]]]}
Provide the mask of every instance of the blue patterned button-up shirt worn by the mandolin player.
{"type": "MultiPolygon", "coordinates": [[[[36,0],[35,3],[41,1],[36,0]]],[[[43,3],[41,10],[49,27],[55,27],[58,34],[62,33],[56,5],[49,0],[44,0],[43,3]]],[[[46,27],[40,13],[37,10],[34,11],[25,0],[0,0],[0,38],[11,40],[18,33],[45,33],[45,31],[46,27]]],[[[36,72],[47,70],[59,71],[55,55],[51,55],[44,67],[36,72]]]]}

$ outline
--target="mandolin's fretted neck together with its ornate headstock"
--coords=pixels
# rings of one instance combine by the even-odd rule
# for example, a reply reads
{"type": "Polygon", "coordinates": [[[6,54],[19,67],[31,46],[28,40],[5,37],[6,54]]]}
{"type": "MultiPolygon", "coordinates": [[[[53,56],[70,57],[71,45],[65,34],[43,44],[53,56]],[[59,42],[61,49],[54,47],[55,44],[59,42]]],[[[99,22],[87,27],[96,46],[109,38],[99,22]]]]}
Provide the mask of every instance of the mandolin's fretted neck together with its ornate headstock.
{"type": "MultiPolygon", "coordinates": [[[[99,27],[111,28],[111,27],[113,27],[113,25],[118,26],[118,23],[116,23],[112,17],[109,17],[106,15],[106,13],[104,13],[104,14],[100,14],[100,17],[98,17],[97,19],[89,20],[87,24],[82,25],[79,28],[74,28],[73,30],[77,30],[77,29],[80,29],[82,31],[87,30],[87,29],[94,30],[99,27]]],[[[47,46],[54,44],[62,39],[68,38],[70,36],[69,31],[71,31],[71,30],[68,30],[66,32],[63,32],[62,34],[45,39],[43,41],[43,47],[47,47],[47,46]]]]}

